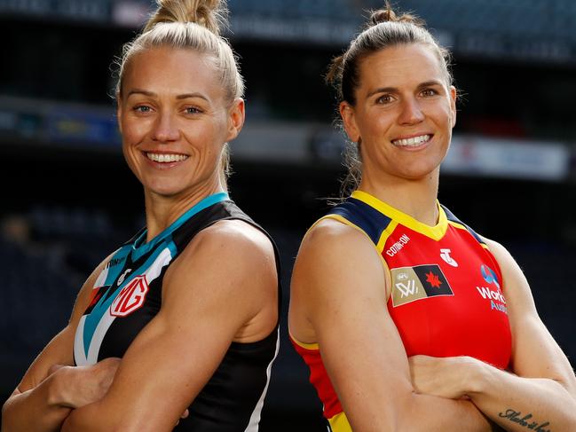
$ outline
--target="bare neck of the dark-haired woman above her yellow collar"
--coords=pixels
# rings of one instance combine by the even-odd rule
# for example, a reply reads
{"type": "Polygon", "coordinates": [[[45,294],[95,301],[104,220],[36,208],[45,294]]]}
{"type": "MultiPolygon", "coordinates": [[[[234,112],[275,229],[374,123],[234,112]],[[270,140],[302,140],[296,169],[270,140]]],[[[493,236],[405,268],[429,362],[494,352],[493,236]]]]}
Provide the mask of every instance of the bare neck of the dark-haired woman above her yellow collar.
{"type": "Polygon", "coordinates": [[[439,169],[427,177],[415,180],[371,177],[363,173],[359,190],[383,200],[422,224],[433,226],[438,224],[438,179],[439,169]]]}

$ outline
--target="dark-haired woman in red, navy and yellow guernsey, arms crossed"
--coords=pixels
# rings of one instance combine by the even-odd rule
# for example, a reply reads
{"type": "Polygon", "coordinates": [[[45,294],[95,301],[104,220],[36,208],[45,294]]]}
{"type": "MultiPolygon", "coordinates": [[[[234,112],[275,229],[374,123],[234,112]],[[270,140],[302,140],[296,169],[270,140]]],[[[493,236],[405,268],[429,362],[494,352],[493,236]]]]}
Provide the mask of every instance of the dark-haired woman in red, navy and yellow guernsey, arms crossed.
{"type": "Polygon", "coordinates": [[[447,52],[388,7],[328,78],[359,182],[304,237],[289,330],[332,430],[576,430],[572,367],[522,271],[438,203],[447,52]]]}

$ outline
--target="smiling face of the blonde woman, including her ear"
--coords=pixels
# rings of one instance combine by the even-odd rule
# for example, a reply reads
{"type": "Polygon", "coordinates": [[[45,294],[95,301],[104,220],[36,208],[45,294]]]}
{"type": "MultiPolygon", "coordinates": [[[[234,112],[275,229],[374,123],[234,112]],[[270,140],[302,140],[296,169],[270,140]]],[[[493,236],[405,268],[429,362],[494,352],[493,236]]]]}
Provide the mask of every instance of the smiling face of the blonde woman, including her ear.
{"type": "Polygon", "coordinates": [[[118,98],[122,152],[146,192],[216,192],[225,142],[238,135],[244,104],[225,100],[217,70],[193,50],[154,48],[128,65],[118,98]]]}

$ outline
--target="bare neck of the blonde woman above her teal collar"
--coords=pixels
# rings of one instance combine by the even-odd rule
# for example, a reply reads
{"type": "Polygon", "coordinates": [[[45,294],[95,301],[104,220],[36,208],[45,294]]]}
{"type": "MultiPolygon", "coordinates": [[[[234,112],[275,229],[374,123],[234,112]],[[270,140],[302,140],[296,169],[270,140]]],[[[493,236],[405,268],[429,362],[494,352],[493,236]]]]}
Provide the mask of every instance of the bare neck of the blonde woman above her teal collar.
{"type": "Polygon", "coordinates": [[[218,192],[227,192],[220,182],[201,185],[193,190],[165,196],[145,189],[146,202],[146,241],[154,239],[159,233],[173,224],[186,210],[193,208],[201,200],[218,192]]]}

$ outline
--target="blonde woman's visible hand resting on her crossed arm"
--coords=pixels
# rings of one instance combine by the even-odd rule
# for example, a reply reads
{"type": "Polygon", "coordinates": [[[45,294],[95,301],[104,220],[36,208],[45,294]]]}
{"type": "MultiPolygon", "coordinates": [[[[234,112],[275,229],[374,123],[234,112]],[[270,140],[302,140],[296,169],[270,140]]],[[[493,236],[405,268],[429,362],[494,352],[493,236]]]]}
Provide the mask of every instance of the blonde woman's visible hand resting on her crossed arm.
{"type": "Polygon", "coordinates": [[[120,362],[120,358],[111,357],[96,365],[51,366],[51,373],[60,375],[61,405],[79,408],[99,401],[110,389],[120,362]]]}

